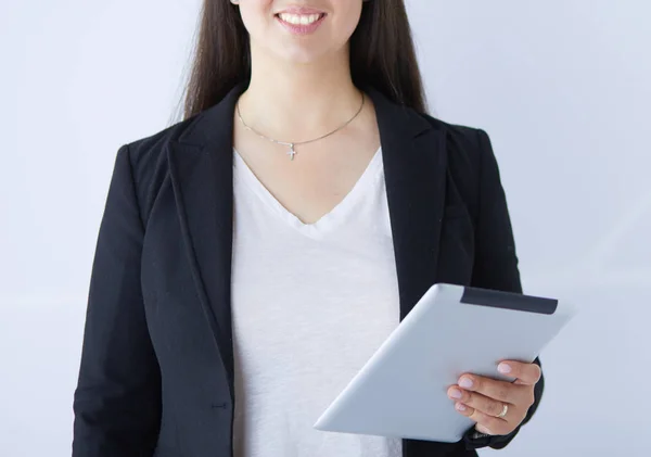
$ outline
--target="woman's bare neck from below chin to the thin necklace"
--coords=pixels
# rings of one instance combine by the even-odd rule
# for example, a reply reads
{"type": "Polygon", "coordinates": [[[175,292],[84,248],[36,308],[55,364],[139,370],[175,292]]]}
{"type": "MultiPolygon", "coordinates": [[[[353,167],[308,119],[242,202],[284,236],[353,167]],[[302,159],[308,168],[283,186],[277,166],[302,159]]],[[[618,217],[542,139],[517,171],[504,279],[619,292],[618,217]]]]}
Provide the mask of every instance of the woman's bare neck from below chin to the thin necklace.
{"type": "Polygon", "coordinates": [[[288,63],[255,53],[251,82],[239,101],[244,122],[279,141],[305,141],[348,120],[361,94],[347,53],[315,63],[288,63]]]}

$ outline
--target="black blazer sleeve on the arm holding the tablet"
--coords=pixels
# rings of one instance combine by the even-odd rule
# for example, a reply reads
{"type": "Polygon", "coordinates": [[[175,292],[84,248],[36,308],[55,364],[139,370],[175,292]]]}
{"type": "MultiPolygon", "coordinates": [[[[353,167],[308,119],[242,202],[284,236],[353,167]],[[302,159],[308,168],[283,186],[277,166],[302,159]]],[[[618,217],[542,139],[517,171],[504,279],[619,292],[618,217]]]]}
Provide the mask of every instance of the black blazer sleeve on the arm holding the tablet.
{"type": "MultiPolygon", "coordinates": [[[[475,221],[475,263],[471,284],[477,288],[522,293],[513,229],[499,167],[488,135],[482,129],[477,129],[476,132],[481,158],[475,221]]],[[[538,358],[534,363],[540,365],[538,358]]],[[[512,433],[490,436],[478,433],[473,428],[464,435],[467,447],[489,446],[500,449],[507,446],[536,411],[544,386],[545,380],[540,378],[534,388],[534,404],[528,409],[524,421],[512,433]]]]}

